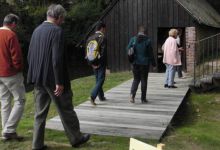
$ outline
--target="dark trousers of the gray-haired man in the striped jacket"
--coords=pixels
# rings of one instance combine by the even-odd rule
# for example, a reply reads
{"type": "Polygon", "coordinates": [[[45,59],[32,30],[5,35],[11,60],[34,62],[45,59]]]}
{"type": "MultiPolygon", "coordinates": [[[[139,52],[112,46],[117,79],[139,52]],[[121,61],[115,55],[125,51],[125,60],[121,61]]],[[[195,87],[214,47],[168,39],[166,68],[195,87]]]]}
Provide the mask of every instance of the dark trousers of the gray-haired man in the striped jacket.
{"type": "Polygon", "coordinates": [[[56,105],[70,144],[75,144],[81,138],[79,120],[76,112],[73,110],[71,89],[66,89],[59,97],[55,96],[53,91],[54,89],[44,86],[36,86],[34,89],[35,117],[32,148],[42,148],[44,145],[46,117],[51,99],[56,105]]]}

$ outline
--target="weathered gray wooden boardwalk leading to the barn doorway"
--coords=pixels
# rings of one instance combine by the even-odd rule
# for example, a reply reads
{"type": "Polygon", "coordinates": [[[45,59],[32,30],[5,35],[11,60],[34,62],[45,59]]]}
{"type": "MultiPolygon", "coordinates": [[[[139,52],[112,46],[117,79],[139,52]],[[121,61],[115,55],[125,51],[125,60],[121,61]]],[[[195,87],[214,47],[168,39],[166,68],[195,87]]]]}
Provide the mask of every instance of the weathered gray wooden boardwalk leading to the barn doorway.
{"type": "MultiPolygon", "coordinates": [[[[160,139],[188,92],[189,79],[175,79],[177,89],[164,88],[164,74],[150,73],[147,104],[141,104],[140,88],[135,104],[129,102],[132,80],[105,93],[105,102],[89,101],[75,108],[84,133],[160,139]]],[[[140,87],[140,86],[139,86],[140,87]]],[[[47,128],[63,130],[59,116],[47,121],[47,128]]]]}

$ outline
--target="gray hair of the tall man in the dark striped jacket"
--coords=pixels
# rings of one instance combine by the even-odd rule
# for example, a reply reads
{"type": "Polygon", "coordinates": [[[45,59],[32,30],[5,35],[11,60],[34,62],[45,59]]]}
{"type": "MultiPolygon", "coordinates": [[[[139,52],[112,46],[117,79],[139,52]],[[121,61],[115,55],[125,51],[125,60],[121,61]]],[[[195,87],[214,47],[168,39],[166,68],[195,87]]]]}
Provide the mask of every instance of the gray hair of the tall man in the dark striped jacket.
{"type": "Polygon", "coordinates": [[[63,8],[62,5],[52,4],[47,9],[47,16],[52,17],[54,19],[59,19],[59,17],[65,17],[66,10],[63,8]]]}

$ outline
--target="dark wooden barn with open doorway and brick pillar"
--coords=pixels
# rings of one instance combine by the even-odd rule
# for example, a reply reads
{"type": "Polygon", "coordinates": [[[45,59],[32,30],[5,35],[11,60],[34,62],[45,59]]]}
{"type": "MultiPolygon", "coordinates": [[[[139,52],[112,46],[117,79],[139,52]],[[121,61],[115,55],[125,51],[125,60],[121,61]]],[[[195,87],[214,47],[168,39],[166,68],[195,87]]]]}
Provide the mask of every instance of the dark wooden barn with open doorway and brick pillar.
{"type": "MultiPolygon", "coordinates": [[[[181,43],[185,48],[183,68],[191,71],[195,41],[220,32],[219,6],[220,2],[215,0],[112,0],[100,18],[107,25],[110,71],[130,69],[125,50],[139,25],[147,27],[148,36],[152,40],[157,72],[165,69],[161,45],[167,38],[169,29],[181,29],[181,43]]],[[[89,34],[91,32],[87,35],[89,34]]]]}

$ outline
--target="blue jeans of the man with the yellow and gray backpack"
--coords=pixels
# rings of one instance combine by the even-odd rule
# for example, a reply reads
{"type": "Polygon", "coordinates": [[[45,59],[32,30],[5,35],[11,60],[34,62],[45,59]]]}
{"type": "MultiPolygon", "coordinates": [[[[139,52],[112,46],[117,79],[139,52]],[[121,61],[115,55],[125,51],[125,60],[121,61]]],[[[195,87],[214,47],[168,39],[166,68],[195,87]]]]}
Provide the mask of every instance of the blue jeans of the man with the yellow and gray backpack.
{"type": "Polygon", "coordinates": [[[106,69],[105,66],[100,66],[97,69],[93,69],[96,78],[96,85],[91,93],[92,99],[96,99],[97,96],[99,97],[99,99],[104,98],[104,92],[102,86],[105,82],[105,69],[106,69]]]}

